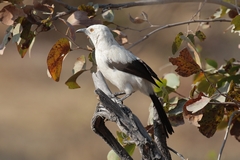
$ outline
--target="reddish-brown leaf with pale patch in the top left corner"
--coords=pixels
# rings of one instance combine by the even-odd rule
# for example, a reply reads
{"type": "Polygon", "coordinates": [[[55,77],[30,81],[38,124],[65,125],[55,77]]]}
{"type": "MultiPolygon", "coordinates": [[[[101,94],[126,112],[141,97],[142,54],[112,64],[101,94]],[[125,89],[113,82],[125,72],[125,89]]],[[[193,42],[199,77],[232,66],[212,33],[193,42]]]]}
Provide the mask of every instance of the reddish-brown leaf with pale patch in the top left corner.
{"type": "Polygon", "coordinates": [[[25,17],[20,7],[9,4],[0,11],[0,21],[5,25],[12,25],[18,17],[25,17]]]}

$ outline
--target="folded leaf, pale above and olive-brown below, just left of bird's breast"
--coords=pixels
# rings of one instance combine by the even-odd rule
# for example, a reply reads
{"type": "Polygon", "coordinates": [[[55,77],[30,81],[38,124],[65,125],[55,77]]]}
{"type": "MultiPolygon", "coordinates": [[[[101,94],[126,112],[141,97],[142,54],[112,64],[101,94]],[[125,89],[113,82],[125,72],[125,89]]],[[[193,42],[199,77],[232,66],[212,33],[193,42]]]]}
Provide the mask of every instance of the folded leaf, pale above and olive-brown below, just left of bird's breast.
{"type": "Polygon", "coordinates": [[[77,61],[74,64],[73,75],[65,82],[69,89],[81,88],[77,84],[76,80],[85,71],[87,71],[86,58],[84,55],[82,55],[81,57],[77,58],[77,61]]]}

